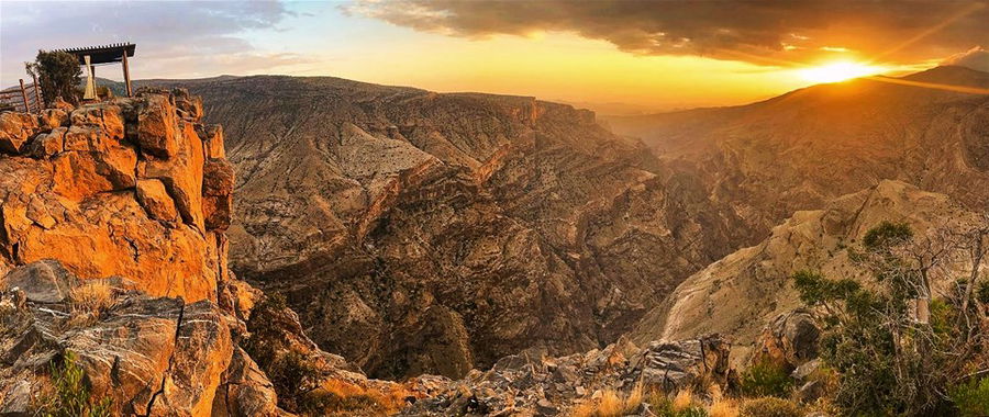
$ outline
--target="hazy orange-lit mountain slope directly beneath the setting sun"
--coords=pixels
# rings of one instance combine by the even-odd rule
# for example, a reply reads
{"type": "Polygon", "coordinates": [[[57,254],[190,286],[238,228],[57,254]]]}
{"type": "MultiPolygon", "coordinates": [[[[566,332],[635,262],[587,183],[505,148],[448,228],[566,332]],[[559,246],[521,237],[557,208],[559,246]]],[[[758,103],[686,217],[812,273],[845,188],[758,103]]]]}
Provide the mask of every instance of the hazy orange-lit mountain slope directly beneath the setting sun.
{"type": "Polygon", "coordinates": [[[814,86],[749,105],[608,123],[696,172],[715,204],[758,232],[755,244],[793,212],[821,208],[884,179],[968,207],[989,204],[989,95],[943,89],[953,86],[986,91],[989,74],[937,67],[902,79],[814,86]]]}

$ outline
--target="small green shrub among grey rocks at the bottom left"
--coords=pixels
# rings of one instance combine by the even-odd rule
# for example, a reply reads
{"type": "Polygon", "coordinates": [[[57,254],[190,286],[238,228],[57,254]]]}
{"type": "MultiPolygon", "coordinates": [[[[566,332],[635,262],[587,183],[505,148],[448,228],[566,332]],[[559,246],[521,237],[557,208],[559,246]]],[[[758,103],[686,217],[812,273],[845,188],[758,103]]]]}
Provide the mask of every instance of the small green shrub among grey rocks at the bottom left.
{"type": "Polygon", "coordinates": [[[76,364],[76,354],[66,352],[62,364],[52,363],[52,396],[42,399],[41,415],[46,417],[109,417],[113,401],[93,402],[86,373],[76,364]]]}

